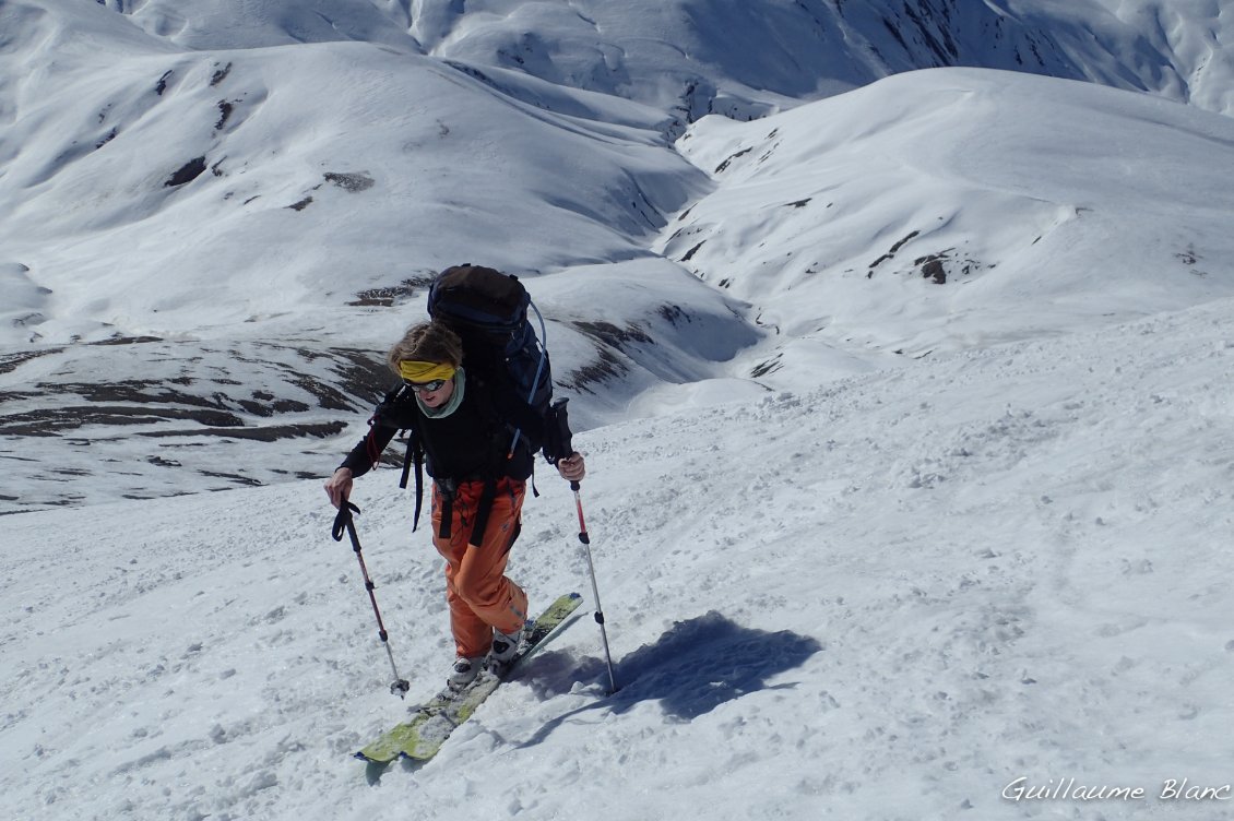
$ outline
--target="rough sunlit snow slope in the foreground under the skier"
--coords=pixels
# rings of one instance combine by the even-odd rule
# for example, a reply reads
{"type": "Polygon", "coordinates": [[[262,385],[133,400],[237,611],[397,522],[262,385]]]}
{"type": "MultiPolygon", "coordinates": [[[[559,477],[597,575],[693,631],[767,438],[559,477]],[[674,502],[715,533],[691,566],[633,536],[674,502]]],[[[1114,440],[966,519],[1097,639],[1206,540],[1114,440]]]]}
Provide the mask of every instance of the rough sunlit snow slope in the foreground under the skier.
{"type": "MultiPolygon", "coordinates": [[[[11,517],[5,815],[1225,817],[1160,795],[1234,779],[1230,309],[579,437],[622,689],[580,619],[420,770],[348,758],[406,705],[316,481],[11,517]]],[[[589,586],[547,473],[540,602],[589,586]]],[[[359,533],[422,699],[450,648],[395,477],[359,533]]]]}

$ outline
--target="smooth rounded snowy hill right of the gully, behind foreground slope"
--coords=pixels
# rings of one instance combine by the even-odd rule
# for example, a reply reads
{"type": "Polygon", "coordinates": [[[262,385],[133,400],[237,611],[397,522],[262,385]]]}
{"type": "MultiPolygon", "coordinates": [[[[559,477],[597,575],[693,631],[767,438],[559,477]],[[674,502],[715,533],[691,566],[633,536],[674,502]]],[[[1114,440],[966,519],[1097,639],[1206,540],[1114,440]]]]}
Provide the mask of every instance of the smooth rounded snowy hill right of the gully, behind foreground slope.
{"type": "Polygon", "coordinates": [[[655,247],[758,306],[780,384],[802,342],[886,362],[1234,295],[1234,121],[1148,95],[913,72],[680,146],[716,190],[655,247]]]}

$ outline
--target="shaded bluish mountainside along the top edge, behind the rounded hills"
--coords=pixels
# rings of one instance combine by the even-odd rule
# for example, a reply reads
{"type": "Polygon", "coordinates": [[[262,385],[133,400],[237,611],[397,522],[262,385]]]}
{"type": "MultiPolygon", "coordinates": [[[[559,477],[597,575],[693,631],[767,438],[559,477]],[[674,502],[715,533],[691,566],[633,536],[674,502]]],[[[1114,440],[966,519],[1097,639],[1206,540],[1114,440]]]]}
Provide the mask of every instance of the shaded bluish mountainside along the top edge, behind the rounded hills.
{"type": "MultiPolygon", "coordinates": [[[[106,0],[189,49],[360,41],[649,102],[674,128],[972,65],[1234,110],[1218,0],[106,0]]],[[[515,91],[517,94],[517,91],[515,91]]]]}

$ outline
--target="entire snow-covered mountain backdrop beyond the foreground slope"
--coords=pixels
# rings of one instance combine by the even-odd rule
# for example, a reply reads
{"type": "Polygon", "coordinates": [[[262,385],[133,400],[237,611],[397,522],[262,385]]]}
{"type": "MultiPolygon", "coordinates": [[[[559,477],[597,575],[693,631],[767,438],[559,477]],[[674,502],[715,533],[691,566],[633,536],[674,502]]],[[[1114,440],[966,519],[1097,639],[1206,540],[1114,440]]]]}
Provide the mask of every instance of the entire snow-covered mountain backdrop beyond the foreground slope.
{"type": "Polygon", "coordinates": [[[457,262],[534,280],[585,428],[1220,295],[1227,119],[863,85],[1222,110],[1202,5],[6,2],[4,510],[320,472],[457,262]]]}

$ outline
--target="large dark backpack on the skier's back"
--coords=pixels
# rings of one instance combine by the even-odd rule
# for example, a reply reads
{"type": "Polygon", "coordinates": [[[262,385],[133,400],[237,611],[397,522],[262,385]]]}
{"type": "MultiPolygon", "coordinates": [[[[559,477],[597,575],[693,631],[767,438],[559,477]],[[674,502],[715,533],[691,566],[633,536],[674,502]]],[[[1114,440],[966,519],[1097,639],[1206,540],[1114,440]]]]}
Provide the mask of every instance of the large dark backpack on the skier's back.
{"type": "Polygon", "coordinates": [[[489,383],[503,406],[517,409],[515,419],[502,420],[515,432],[511,451],[523,446],[536,453],[544,442],[553,372],[528,307],[543,328],[544,317],[518,278],[482,265],[447,268],[428,289],[428,315],[459,335],[468,373],[489,383]]]}

